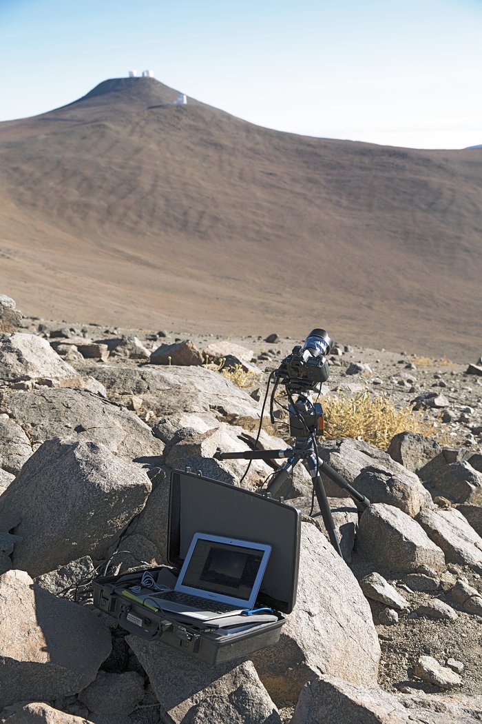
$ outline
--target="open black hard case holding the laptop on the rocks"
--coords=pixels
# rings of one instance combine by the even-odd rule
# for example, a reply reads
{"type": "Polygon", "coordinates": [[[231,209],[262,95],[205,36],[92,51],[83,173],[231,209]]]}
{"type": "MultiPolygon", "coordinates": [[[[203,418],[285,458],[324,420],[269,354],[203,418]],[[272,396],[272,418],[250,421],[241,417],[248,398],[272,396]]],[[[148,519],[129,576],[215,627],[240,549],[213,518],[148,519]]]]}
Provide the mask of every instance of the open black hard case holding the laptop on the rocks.
{"type": "MultiPolygon", "coordinates": [[[[119,586],[140,583],[144,571],[96,578],[94,605],[113,615],[122,628],[143,639],[160,641],[181,649],[207,664],[225,663],[275,644],[296,602],[301,514],[285,502],[192,473],[173,471],[169,497],[169,568],[154,568],[157,576],[176,575],[194,533],[229,536],[272,547],[257,605],[275,610],[277,620],[245,631],[223,635],[201,631],[182,620],[131,602],[116,592],[119,586]],[[128,618],[129,617],[129,618],[128,618]]],[[[171,578],[172,580],[172,578],[171,578]]]]}

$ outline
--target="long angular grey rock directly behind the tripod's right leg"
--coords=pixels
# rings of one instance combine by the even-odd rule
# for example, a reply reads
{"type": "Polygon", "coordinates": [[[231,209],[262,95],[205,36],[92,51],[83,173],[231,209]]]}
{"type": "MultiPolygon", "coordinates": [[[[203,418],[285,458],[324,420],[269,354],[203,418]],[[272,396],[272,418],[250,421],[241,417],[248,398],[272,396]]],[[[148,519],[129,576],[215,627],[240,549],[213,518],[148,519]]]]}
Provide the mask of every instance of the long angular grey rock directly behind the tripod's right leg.
{"type": "MultiPolygon", "coordinates": [[[[417,515],[421,505],[431,504],[430,495],[415,473],[396,463],[387,452],[366,442],[342,438],[320,446],[319,454],[371,502],[395,505],[412,517],[417,515]]],[[[328,495],[343,495],[343,489],[323,471],[322,479],[328,495]]]]}

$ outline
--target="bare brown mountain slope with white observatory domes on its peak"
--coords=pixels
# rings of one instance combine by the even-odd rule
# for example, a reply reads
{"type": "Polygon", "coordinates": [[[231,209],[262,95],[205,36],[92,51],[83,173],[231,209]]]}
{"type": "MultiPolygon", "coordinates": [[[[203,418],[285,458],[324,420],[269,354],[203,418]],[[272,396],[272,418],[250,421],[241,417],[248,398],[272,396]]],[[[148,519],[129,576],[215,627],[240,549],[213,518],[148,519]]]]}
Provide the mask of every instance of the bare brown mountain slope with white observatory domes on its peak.
{"type": "Polygon", "coordinates": [[[480,354],[482,151],[267,130],[150,78],[0,124],[0,290],[79,321],[480,354]]]}

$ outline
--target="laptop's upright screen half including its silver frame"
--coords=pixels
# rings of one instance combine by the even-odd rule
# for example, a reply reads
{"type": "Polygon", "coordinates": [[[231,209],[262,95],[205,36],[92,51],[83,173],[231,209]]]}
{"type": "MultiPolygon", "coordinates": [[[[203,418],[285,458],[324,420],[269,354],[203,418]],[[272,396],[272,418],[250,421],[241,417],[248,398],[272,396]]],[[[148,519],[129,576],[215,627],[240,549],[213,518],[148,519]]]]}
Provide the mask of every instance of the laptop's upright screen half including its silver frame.
{"type": "Polygon", "coordinates": [[[233,605],[251,605],[269,555],[270,546],[264,544],[196,534],[176,590],[233,605]]]}

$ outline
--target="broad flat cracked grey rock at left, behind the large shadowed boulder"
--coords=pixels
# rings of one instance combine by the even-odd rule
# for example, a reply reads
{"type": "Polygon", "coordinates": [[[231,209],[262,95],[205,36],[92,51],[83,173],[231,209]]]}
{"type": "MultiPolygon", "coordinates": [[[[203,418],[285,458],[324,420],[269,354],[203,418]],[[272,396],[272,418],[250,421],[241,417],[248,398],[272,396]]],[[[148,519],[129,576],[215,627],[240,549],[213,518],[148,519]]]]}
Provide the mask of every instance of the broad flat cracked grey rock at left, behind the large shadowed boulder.
{"type": "Polygon", "coordinates": [[[86,390],[5,390],[1,405],[36,445],[72,436],[131,460],[163,454],[163,443],[137,415],[86,390]]]}

